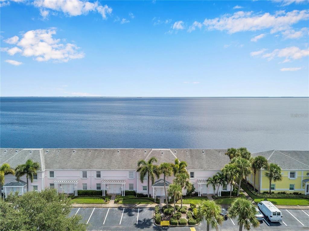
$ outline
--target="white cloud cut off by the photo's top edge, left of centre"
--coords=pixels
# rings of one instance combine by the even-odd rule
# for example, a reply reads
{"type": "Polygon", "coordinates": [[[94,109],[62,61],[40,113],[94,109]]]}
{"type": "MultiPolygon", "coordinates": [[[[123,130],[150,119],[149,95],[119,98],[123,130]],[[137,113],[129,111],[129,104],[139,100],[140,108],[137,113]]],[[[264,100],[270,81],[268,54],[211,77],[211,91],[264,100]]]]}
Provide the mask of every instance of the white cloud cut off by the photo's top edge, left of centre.
{"type": "Polygon", "coordinates": [[[69,16],[88,14],[91,11],[98,12],[103,19],[112,13],[112,8],[107,5],[100,5],[99,2],[87,2],[81,0],[43,0],[34,1],[33,5],[45,10],[61,11],[69,16]]]}

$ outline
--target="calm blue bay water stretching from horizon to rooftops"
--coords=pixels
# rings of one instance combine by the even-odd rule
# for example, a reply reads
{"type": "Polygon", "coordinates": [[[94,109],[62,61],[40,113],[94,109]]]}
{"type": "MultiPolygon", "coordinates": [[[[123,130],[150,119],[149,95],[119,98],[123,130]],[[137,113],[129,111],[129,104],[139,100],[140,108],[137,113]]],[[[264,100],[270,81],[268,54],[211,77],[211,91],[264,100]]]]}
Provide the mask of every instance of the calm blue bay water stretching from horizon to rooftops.
{"type": "Polygon", "coordinates": [[[0,146],[308,150],[309,98],[1,97],[0,146]]]}

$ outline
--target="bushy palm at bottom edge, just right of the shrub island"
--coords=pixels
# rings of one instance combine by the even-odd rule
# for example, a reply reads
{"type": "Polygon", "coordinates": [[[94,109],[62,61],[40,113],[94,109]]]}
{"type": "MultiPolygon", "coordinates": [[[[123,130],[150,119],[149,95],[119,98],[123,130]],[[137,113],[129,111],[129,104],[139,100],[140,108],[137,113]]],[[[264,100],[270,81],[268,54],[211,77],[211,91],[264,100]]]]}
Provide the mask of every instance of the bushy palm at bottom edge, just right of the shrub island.
{"type": "Polygon", "coordinates": [[[214,200],[202,200],[198,208],[198,216],[200,219],[207,222],[207,231],[211,225],[217,229],[218,224],[221,224],[223,217],[220,215],[221,206],[216,204],[214,200]]]}

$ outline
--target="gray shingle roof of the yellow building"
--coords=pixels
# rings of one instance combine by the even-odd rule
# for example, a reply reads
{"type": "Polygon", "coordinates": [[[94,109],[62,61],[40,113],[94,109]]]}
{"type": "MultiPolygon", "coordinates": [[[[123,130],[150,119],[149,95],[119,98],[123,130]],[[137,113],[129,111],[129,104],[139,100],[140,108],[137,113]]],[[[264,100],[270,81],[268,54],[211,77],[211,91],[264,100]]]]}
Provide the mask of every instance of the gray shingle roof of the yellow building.
{"type": "Polygon", "coordinates": [[[269,163],[276,163],[282,169],[309,169],[309,151],[272,150],[253,153],[252,156],[264,156],[269,163]]]}

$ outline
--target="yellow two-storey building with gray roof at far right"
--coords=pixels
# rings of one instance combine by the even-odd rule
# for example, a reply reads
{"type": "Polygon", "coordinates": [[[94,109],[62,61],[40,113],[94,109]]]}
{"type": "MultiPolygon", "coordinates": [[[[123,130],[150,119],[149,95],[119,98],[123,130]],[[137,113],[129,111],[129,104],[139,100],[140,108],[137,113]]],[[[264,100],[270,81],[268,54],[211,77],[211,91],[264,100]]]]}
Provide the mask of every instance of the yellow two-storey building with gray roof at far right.
{"type": "MultiPolygon", "coordinates": [[[[269,163],[276,163],[282,169],[282,180],[272,182],[272,192],[300,192],[309,195],[309,151],[272,150],[253,153],[252,157],[264,156],[269,163]]],[[[265,176],[267,170],[256,172],[256,189],[260,192],[269,191],[269,179],[265,176]]],[[[247,176],[247,181],[254,184],[253,173],[247,176]]]]}

